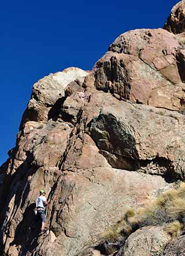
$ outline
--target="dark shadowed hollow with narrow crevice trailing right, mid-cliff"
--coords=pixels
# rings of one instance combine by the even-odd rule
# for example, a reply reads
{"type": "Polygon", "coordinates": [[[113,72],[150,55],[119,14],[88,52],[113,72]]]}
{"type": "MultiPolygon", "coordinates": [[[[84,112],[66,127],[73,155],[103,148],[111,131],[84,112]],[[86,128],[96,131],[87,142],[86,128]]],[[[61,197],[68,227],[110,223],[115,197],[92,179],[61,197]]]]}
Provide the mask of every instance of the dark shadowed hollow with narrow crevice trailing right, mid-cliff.
{"type": "MultiPolygon", "coordinates": [[[[180,177],[175,174],[171,160],[156,155],[153,159],[141,159],[136,147],[136,140],[131,126],[120,122],[113,114],[99,114],[87,125],[88,134],[110,166],[115,169],[140,171],[147,174],[161,175],[168,183],[180,177]],[[162,174],[153,173],[164,170],[162,174]]],[[[160,173],[160,172],[159,172],[160,173]]]]}

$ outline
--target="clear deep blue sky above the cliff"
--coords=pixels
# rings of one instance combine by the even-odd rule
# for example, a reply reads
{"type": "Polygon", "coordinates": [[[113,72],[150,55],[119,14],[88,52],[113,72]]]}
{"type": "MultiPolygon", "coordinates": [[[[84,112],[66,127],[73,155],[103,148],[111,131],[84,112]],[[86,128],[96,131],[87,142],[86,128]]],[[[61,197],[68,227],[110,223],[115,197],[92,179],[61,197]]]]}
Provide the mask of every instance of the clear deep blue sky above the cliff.
{"type": "Polygon", "coordinates": [[[71,66],[91,70],[121,33],[162,27],[176,2],[2,1],[0,166],[38,79],[71,66]]]}

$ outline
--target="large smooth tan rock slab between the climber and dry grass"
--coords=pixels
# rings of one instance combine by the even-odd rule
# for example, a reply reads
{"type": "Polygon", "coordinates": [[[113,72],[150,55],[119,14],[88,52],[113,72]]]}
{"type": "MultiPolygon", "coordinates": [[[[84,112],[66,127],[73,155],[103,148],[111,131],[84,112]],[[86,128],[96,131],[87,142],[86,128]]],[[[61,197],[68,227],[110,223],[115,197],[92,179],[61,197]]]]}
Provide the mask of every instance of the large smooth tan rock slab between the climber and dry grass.
{"type": "MultiPolygon", "coordinates": [[[[149,203],[165,185],[161,177],[110,167],[94,168],[87,178],[65,171],[54,193],[60,204],[54,207],[50,224],[56,243],[63,245],[61,255],[76,255],[84,244],[92,246],[94,237],[118,221],[125,210],[149,203]]],[[[48,214],[50,218],[50,210],[48,214]]]]}

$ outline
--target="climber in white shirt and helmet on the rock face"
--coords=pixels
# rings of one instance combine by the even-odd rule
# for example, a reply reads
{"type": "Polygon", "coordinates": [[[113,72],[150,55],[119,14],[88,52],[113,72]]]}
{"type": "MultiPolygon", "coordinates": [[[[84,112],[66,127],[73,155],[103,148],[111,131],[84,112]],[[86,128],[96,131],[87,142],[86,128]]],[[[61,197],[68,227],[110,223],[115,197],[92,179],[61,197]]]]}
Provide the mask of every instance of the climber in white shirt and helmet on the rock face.
{"type": "Polygon", "coordinates": [[[38,196],[38,198],[36,199],[36,211],[37,211],[37,215],[39,218],[42,219],[42,226],[41,226],[41,232],[45,232],[47,231],[47,229],[45,228],[46,225],[46,205],[47,200],[46,200],[46,191],[45,189],[40,189],[40,195],[38,196]]]}

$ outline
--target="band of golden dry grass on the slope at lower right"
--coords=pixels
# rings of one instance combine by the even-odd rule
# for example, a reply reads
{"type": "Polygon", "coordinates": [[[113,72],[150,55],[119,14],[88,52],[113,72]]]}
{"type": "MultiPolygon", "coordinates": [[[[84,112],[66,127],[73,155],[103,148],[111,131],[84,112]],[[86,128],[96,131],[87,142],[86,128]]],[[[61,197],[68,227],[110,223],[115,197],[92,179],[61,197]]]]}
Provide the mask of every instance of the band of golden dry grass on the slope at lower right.
{"type": "Polygon", "coordinates": [[[107,243],[121,242],[142,226],[167,224],[164,231],[173,239],[182,233],[183,222],[185,222],[185,183],[177,189],[161,193],[149,206],[139,209],[137,214],[129,209],[119,222],[103,233],[102,238],[107,243]]]}

